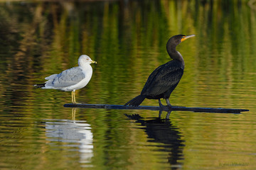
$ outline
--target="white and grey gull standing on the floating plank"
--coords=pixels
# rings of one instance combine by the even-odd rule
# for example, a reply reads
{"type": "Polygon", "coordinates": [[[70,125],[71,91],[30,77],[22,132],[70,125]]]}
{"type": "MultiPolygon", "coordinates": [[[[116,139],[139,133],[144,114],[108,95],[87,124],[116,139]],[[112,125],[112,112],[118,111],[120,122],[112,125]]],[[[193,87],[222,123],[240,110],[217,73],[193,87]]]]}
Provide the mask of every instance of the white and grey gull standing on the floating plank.
{"type": "Polygon", "coordinates": [[[75,90],[85,87],[92,77],[92,67],[90,64],[97,62],[92,61],[89,56],[81,55],[78,59],[78,67],[66,69],[60,74],[53,74],[45,79],[48,80],[43,84],[34,86],[41,89],[57,89],[61,91],[72,91],[72,103],[75,101],[75,90]]]}

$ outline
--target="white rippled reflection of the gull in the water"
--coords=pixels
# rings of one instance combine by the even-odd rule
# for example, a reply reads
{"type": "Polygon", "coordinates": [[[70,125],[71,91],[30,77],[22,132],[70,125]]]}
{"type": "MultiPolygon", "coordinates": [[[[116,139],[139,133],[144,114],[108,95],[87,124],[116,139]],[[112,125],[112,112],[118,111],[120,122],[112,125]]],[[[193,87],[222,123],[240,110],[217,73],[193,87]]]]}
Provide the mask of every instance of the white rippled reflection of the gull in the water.
{"type": "MultiPolygon", "coordinates": [[[[75,109],[73,116],[75,116],[75,109]]],[[[48,119],[46,120],[46,137],[46,140],[51,142],[62,142],[62,146],[78,148],[80,163],[88,164],[91,162],[93,135],[90,124],[86,123],[85,120],[48,119]]],[[[58,145],[60,144],[58,143],[58,145]]]]}

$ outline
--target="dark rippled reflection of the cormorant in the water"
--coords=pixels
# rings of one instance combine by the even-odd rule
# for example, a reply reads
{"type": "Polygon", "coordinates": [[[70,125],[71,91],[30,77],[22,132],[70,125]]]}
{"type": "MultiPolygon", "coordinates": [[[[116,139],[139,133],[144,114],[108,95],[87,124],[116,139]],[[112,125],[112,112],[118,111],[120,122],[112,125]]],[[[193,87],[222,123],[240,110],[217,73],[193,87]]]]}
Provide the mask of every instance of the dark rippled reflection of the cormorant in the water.
{"type": "MultiPolygon", "coordinates": [[[[169,115],[171,112],[167,113],[169,115]]],[[[181,169],[182,164],[179,160],[183,159],[183,143],[181,140],[181,133],[178,128],[171,124],[169,119],[151,118],[145,120],[140,115],[127,115],[127,118],[136,120],[135,123],[140,123],[146,135],[148,135],[148,142],[154,142],[164,145],[156,145],[161,152],[169,152],[168,162],[171,164],[171,169],[181,169]]],[[[159,113],[161,115],[161,111],[159,113]]]]}

